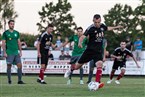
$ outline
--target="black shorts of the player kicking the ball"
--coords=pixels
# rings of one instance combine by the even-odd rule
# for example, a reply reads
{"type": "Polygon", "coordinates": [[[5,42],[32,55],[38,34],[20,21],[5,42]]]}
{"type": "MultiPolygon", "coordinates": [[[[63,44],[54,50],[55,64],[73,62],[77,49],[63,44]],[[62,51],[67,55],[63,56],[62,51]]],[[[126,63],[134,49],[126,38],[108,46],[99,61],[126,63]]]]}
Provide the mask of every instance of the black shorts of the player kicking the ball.
{"type": "Polygon", "coordinates": [[[102,53],[86,49],[84,53],[81,55],[78,63],[84,64],[91,61],[92,59],[94,60],[94,63],[96,63],[99,60],[102,61],[103,60],[102,53]]]}

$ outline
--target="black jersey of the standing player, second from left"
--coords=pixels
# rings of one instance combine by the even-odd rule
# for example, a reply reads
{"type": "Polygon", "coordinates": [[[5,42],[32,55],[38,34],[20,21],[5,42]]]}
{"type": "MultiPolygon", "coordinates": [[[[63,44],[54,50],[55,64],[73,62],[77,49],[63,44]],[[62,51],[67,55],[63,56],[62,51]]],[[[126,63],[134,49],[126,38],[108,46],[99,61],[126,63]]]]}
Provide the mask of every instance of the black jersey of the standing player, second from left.
{"type": "Polygon", "coordinates": [[[48,34],[47,32],[42,33],[38,40],[40,42],[40,52],[48,51],[51,46],[52,40],[52,34],[48,34]]]}

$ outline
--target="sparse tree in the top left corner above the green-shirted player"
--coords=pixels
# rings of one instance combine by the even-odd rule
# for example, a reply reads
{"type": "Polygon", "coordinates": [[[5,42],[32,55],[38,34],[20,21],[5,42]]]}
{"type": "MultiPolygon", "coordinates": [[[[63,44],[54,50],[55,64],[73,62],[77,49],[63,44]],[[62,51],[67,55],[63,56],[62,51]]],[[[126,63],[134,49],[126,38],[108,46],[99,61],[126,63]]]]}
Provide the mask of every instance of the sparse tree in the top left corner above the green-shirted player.
{"type": "Polygon", "coordinates": [[[0,0],[0,17],[0,29],[3,28],[5,31],[7,20],[18,17],[14,11],[14,0],[0,0]]]}

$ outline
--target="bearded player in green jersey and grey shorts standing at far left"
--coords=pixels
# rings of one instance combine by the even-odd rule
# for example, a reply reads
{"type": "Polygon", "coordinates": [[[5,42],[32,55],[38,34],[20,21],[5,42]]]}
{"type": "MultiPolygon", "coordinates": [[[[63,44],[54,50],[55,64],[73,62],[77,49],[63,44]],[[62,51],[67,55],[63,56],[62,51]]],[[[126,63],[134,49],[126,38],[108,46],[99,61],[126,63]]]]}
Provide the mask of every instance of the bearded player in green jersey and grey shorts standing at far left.
{"type": "Polygon", "coordinates": [[[2,47],[4,51],[4,57],[6,57],[7,62],[7,76],[8,83],[11,84],[11,67],[12,64],[16,64],[18,67],[18,84],[25,84],[22,81],[22,63],[21,63],[21,42],[20,34],[18,31],[14,30],[14,20],[8,22],[9,29],[6,30],[2,35],[2,47]]]}

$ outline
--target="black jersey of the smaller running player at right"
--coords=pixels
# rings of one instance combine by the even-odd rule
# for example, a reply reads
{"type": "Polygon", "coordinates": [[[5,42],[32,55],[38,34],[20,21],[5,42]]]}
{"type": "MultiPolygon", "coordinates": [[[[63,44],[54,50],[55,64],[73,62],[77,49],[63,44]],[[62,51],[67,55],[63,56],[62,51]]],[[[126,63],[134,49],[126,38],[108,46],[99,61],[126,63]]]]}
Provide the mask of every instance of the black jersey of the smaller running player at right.
{"type": "Polygon", "coordinates": [[[130,50],[128,50],[127,48],[125,48],[125,49],[122,51],[122,50],[121,50],[121,47],[116,48],[115,51],[114,51],[114,53],[113,53],[113,55],[115,55],[115,56],[121,56],[121,59],[120,59],[120,60],[117,60],[117,59],[115,58],[115,61],[116,61],[116,62],[126,62],[126,57],[127,57],[127,55],[133,57],[133,54],[131,53],[130,50]]]}

